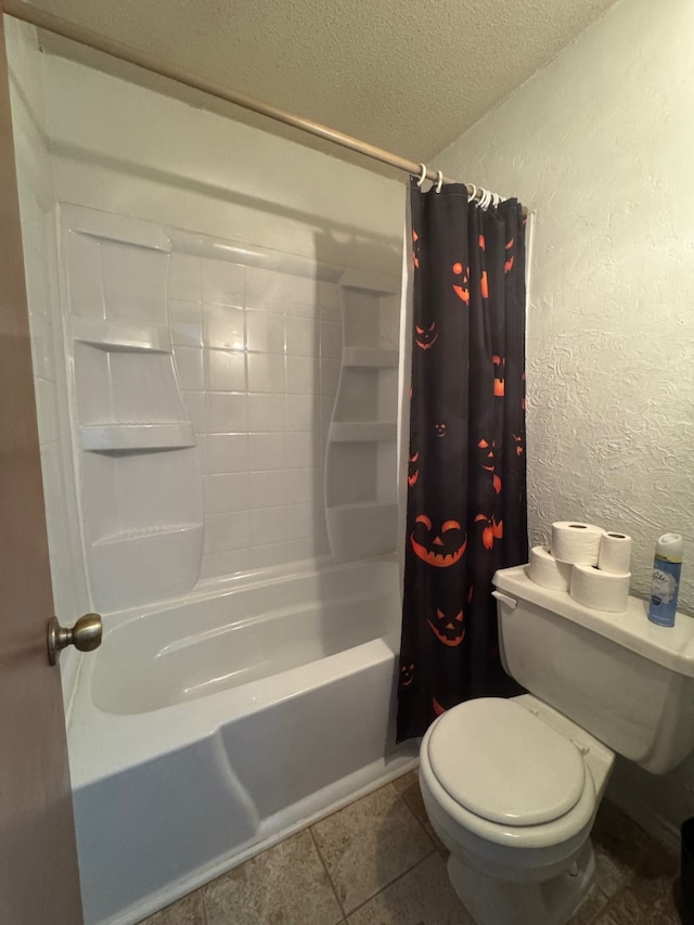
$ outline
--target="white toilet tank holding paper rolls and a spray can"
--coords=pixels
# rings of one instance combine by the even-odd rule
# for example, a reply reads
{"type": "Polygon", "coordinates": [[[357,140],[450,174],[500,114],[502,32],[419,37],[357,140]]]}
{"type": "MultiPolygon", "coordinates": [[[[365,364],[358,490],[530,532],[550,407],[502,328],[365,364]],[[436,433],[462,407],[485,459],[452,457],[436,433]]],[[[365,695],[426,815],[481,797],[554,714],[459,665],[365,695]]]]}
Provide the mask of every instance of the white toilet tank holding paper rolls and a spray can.
{"type": "Polygon", "coordinates": [[[526,569],[493,578],[506,672],[647,771],[679,765],[694,750],[694,619],[655,626],[638,598],[624,614],[593,611],[526,569]]]}

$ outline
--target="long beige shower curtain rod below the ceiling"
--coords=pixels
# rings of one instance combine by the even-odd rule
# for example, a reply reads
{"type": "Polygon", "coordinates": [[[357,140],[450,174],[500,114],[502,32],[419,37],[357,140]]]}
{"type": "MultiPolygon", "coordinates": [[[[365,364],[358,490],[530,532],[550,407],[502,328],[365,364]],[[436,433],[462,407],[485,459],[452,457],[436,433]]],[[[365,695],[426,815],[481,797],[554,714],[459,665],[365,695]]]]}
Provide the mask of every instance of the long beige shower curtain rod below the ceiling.
{"type": "MultiPolygon", "coordinates": [[[[253,97],[247,97],[245,93],[236,93],[226,87],[222,87],[220,83],[216,83],[214,80],[208,80],[206,77],[192,74],[190,70],[185,70],[175,64],[168,64],[167,62],[159,61],[143,51],[123,44],[121,42],[113,41],[112,39],[101,36],[91,29],[86,29],[75,23],[67,22],[67,20],[54,16],[52,13],[39,10],[37,7],[30,7],[28,3],[25,3],[24,0],[0,0],[0,9],[9,16],[13,16],[15,20],[22,20],[23,22],[29,23],[39,29],[53,33],[56,36],[62,36],[62,38],[87,46],[88,48],[103,52],[111,57],[127,61],[129,64],[134,64],[137,67],[142,67],[153,74],[158,74],[160,77],[175,80],[177,83],[183,83],[185,87],[192,87],[194,90],[201,90],[203,93],[207,93],[210,97],[216,97],[217,99],[224,100],[228,103],[233,103],[244,110],[250,110],[250,112],[258,113],[261,116],[267,116],[275,121],[300,129],[301,131],[313,134],[317,138],[331,141],[334,144],[339,144],[343,147],[356,151],[357,153],[371,157],[374,160],[381,160],[383,164],[388,164],[390,167],[395,167],[398,170],[404,170],[407,174],[420,177],[424,168],[424,176],[428,180],[434,180],[435,182],[441,181],[444,183],[457,182],[448,177],[442,177],[436,170],[429,170],[423,164],[415,164],[414,160],[408,160],[406,157],[400,157],[389,151],[384,151],[382,147],[376,147],[365,141],[360,141],[357,138],[352,138],[342,131],[336,131],[335,129],[329,128],[320,123],[313,123],[310,119],[304,119],[300,116],[286,113],[283,110],[279,110],[275,106],[261,102],[260,100],[254,100],[253,97]]],[[[480,198],[484,190],[478,189],[477,187],[467,185],[467,192],[471,196],[480,198]]],[[[524,213],[525,211],[526,210],[524,209],[524,213]]]]}

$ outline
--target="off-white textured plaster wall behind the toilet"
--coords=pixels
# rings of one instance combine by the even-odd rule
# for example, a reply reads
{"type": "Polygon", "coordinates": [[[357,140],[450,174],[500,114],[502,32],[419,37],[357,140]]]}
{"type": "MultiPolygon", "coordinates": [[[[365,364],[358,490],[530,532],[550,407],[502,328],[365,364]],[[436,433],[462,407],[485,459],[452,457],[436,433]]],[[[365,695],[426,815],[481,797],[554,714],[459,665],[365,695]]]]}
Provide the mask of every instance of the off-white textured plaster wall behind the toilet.
{"type": "MultiPolygon", "coordinates": [[[[537,211],[528,324],[531,540],[579,518],[685,540],[694,612],[694,4],[622,0],[436,158],[537,211]]],[[[672,838],[694,760],[612,794],[672,838]]]]}

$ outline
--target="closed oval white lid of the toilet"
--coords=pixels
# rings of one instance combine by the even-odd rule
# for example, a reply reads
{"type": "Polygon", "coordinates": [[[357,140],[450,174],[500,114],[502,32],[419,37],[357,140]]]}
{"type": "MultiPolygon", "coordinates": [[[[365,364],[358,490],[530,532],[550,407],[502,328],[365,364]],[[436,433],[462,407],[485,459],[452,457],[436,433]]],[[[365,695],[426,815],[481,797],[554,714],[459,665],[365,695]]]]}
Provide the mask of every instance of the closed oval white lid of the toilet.
{"type": "Polygon", "coordinates": [[[573,809],[586,783],[578,748],[513,701],[484,697],[448,710],[429,736],[438,782],[490,822],[540,825],[573,809]]]}

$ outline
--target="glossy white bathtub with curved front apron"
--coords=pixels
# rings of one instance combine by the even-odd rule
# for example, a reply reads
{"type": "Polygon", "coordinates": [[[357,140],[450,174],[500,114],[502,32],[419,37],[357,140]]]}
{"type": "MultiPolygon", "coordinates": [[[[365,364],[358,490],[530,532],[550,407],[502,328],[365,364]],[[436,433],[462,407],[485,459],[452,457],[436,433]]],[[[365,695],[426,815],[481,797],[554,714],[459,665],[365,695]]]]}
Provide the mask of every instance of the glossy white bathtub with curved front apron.
{"type": "Polygon", "coordinates": [[[414,767],[397,563],[104,615],[68,722],[86,925],[130,925],[414,767]]]}

